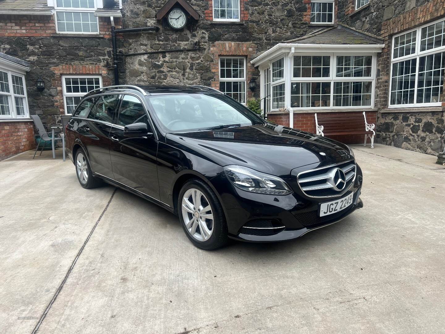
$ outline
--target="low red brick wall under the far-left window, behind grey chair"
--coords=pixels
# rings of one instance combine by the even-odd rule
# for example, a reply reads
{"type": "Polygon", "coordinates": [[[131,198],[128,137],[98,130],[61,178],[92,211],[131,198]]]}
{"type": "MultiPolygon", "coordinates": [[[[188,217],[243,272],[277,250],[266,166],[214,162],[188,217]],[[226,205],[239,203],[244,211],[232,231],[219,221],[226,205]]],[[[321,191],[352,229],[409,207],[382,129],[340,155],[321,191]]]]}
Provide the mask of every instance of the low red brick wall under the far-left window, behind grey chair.
{"type": "Polygon", "coordinates": [[[0,122],[0,160],[36,148],[30,122],[0,122]]]}

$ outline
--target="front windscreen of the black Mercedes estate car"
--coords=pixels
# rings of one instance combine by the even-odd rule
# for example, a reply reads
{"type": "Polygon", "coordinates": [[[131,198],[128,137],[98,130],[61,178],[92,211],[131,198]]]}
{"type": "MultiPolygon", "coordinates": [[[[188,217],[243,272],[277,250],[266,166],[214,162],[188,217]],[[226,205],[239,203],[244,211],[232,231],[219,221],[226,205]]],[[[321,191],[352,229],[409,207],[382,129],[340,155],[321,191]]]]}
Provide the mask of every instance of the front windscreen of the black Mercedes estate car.
{"type": "Polygon", "coordinates": [[[223,94],[161,94],[148,98],[167,132],[206,130],[214,126],[248,126],[264,121],[223,94]]]}

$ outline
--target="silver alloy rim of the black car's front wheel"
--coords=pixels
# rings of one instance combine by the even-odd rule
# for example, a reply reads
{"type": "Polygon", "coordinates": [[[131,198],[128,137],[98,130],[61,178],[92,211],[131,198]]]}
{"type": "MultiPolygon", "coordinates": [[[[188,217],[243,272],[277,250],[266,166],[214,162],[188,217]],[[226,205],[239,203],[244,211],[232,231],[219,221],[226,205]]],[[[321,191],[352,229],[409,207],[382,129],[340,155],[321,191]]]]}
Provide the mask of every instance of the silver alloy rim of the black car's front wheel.
{"type": "Polygon", "coordinates": [[[198,241],[206,241],[213,233],[213,212],[209,200],[196,188],[182,196],[182,218],[187,232],[198,241]]]}

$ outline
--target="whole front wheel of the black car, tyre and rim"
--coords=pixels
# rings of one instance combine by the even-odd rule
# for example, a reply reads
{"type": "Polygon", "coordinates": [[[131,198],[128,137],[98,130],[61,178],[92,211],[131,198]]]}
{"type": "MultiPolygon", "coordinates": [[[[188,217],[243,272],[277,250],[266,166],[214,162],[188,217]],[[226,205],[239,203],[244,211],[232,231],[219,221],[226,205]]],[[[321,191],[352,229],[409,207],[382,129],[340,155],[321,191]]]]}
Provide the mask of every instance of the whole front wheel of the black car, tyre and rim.
{"type": "Polygon", "coordinates": [[[223,208],[214,191],[198,179],[188,181],[178,197],[178,214],[190,241],[202,249],[227,244],[227,224],[223,208]]]}

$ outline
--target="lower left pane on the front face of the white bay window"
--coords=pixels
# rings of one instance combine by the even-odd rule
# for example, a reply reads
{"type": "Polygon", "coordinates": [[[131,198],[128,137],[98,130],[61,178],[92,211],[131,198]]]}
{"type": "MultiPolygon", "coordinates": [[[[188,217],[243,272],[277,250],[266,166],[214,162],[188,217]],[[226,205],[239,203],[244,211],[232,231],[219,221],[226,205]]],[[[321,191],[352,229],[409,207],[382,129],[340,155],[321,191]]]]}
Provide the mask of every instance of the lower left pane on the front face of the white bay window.
{"type": "Polygon", "coordinates": [[[292,82],[291,107],[331,106],[331,82],[292,82]]]}

